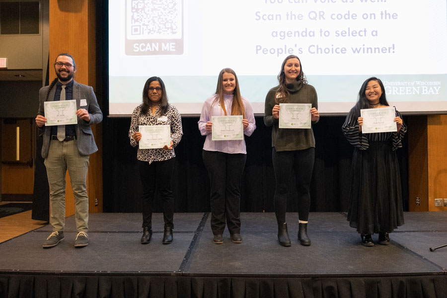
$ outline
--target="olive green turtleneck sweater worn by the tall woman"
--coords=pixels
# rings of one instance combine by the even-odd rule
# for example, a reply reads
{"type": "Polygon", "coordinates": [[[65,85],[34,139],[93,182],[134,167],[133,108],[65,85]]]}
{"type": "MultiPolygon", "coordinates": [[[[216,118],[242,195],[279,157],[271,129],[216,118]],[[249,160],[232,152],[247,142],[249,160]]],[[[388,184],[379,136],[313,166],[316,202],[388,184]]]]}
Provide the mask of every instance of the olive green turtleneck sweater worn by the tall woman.
{"type": "MultiPolygon", "coordinates": [[[[272,147],[276,151],[302,150],[315,147],[315,138],[312,129],[291,129],[279,128],[279,119],[272,116],[272,109],[277,104],[275,102],[276,86],[267,93],[265,98],[264,123],[266,126],[273,126],[272,147]]],[[[312,108],[318,109],[318,99],[315,88],[308,84],[302,84],[301,80],[286,85],[290,92],[287,103],[311,103],[312,108]]],[[[312,122],[312,124],[318,122],[312,122]]]]}

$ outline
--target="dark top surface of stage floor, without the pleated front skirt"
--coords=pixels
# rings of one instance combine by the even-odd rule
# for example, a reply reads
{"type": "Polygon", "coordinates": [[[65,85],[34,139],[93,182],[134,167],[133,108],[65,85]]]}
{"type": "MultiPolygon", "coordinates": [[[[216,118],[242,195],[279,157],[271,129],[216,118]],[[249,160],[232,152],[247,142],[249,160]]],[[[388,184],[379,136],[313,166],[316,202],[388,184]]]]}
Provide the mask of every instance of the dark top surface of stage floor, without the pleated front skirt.
{"type": "MultiPolygon", "coordinates": [[[[212,242],[208,214],[175,214],[174,241],[161,244],[163,219],[153,216],[151,243],[140,244],[141,214],[90,214],[89,245],[74,248],[74,217],[65,241],[43,249],[51,226],[0,244],[0,272],[160,274],[182,276],[337,277],[446,274],[447,213],[406,213],[406,224],[390,234],[390,245],[365,247],[342,213],[312,213],[311,246],[297,240],[298,214],[287,214],[291,247],[277,242],[272,213],[241,214],[243,242],[212,242]]],[[[377,236],[373,236],[374,241],[377,236]]]]}

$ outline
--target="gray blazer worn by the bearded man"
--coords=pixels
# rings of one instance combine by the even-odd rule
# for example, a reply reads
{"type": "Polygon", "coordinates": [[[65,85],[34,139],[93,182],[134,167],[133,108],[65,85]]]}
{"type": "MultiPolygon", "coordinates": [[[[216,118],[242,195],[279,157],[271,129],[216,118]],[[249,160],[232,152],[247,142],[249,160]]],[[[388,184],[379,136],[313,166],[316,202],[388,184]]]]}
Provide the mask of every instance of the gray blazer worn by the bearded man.
{"type": "MultiPolygon", "coordinates": [[[[45,117],[44,102],[50,86],[42,87],[39,91],[39,111],[38,114],[45,117]]],[[[48,95],[48,101],[54,100],[54,94],[56,92],[56,85],[50,91],[48,95]]],[[[96,147],[93,133],[91,131],[91,124],[96,124],[102,121],[102,112],[99,109],[98,102],[96,100],[93,88],[87,85],[79,84],[73,81],[73,99],[76,100],[76,109],[86,109],[90,116],[90,121],[86,122],[79,117],[77,118],[77,124],[75,125],[77,149],[81,155],[90,155],[98,150],[96,147]],[[80,105],[81,99],[85,99],[87,105],[80,105]]],[[[51,127],[43,126],[39,128],[39,135],[43,137],[42,145],[42,157],[47,158],[48,149],[50,148],[50,133],[51,127]]]]}

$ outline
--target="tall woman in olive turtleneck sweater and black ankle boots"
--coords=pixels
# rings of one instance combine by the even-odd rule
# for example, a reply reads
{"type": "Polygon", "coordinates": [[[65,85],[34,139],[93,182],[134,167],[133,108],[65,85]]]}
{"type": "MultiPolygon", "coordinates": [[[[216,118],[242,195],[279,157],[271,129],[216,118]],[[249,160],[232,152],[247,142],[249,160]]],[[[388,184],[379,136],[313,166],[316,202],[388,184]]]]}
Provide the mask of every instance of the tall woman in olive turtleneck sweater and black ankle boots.
{"type": "Polygon", "coordinates": [[[295,173],[298,193],[299,230],[301,245],[310,245],[307,236],[307,220],[310,209],[310,178],[315,157],[315,139],[312,129],[279,128],[280,103],[310,103],[312,124],[319,120],[318,99],[315,88],[307,84],[301,62],[295,55],[288,56],[278,74],[279,85],[270,89],[265,98],[264,123],[273,126],[272,159],[275,170],[275,214],[278,222],[278,241],[290,246],[287,231],[286,207],[292,169],[295,173]]]}

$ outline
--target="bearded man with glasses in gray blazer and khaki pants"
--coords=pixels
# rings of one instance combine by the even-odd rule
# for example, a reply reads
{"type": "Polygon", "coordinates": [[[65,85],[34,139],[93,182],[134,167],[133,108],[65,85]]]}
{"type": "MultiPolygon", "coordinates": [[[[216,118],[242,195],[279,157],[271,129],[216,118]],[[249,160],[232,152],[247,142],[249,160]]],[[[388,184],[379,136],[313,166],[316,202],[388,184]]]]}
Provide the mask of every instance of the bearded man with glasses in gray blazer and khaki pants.
{"type": "Polygon", "coordinates": [[[39,135],[43,137],[42,157],[45,159],[50,186],[50,224],[53,226],[53,232],[42,246],[53,247],[64,240],[65,175],[68,170],[74,194],[74,216],[78,232],[74,246],[83,247],[88,244],[88,159],[90,154],[98,150],[90,125],[102,121],[102,112],[93,88],[73,79],[76,64],[70,54],[59,54],[54,70],[57,77],[49,86],[39,91],[39,110],[36,117],[39,135]],[[59,100],[75,101],[76,124],[50,125],[52,121],[46,118],[45,102],[59,100]]]}

